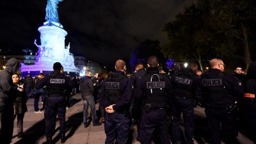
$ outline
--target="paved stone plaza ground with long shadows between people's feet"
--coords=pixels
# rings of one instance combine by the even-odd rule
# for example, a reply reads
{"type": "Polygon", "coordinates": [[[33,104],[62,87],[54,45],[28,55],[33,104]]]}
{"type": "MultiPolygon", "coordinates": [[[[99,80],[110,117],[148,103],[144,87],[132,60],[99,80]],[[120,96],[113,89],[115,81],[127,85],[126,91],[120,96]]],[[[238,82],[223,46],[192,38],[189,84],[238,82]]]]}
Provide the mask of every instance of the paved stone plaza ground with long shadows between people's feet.
{"type": "MultiPolygon", "coordinates": [[[[33,100],[29,99],[27,106],[28,112],[24,118],[24,134],[23,139],[17,138],[17,120],[15,120],[12,144],[32,144],[43,143],[45,141],[44,131],[44,113],[34,113],[33,100]]],[[[93,127],[92,124],[84,128],[83,125],[83,100],[81,95],[76,94],[72,96],[71,107],[67,109],[67,141],[66,144],[102,144],[106,138],[104,133],[104,125],[93,127]]],[[[97,109],[99,104],[96,105],[97,109]]],[[[42,106],[41,106],[42,107],[42,106]]],[[[205,129],[205,115],[203,108],[195,108],[195,144],[205,143],[206,129],[205,129]]],[[[184,131],[182,125],[180,126],[184,131]]],[[[54,143],[60,142],[59,124],[56,123],[56,133],[52,137],[54,143]]],[[[246,133],[246,132],[245,132],[246,133]]],[[[138,144],[136,141],[136,131],[134,131],[134,138],[132,143],[138,144]]],[[[239,132],[238,139],[241,144],[253,144],[244,134],[239,132]]]]}

